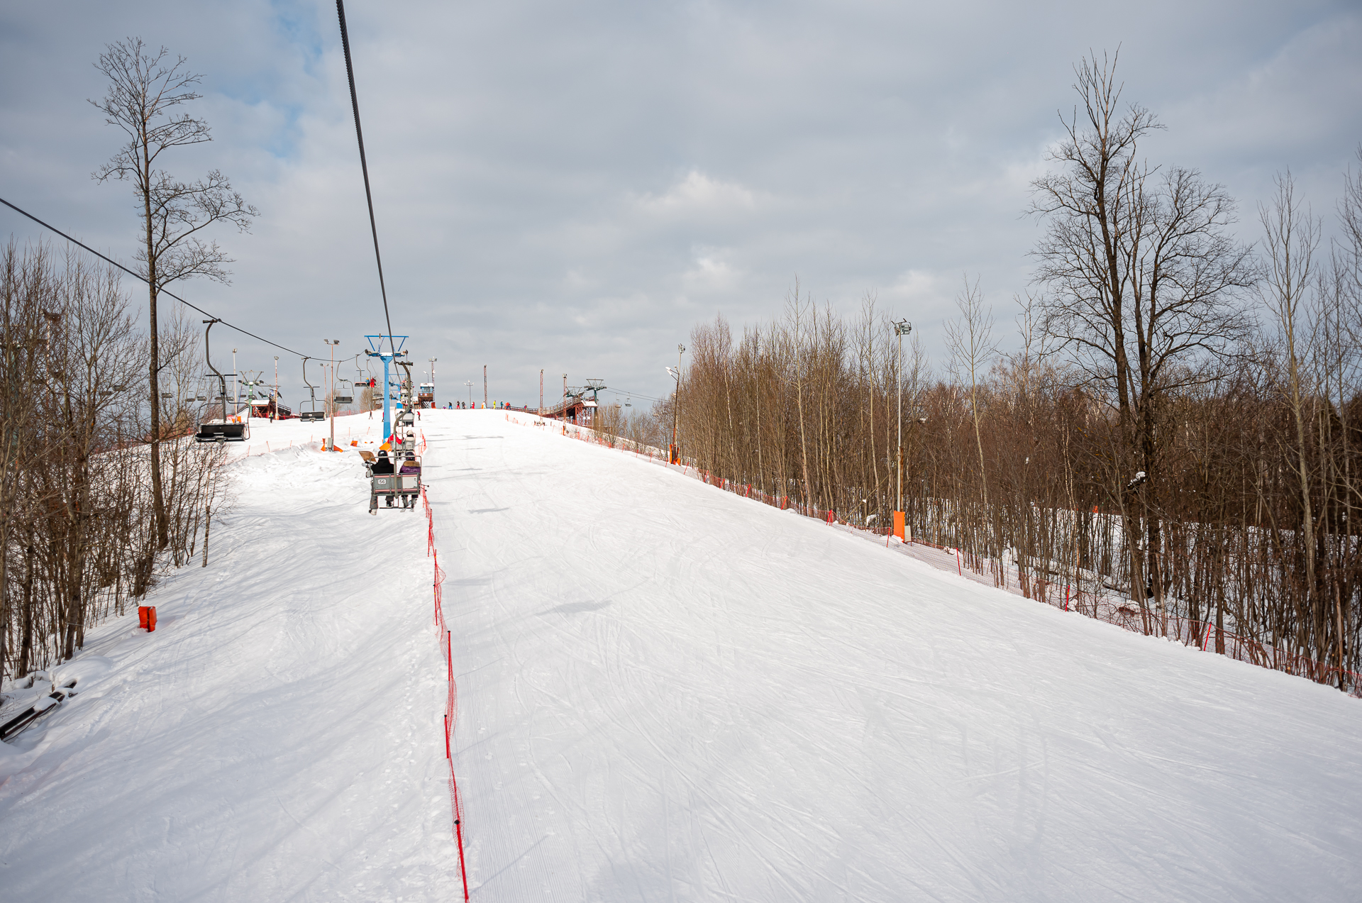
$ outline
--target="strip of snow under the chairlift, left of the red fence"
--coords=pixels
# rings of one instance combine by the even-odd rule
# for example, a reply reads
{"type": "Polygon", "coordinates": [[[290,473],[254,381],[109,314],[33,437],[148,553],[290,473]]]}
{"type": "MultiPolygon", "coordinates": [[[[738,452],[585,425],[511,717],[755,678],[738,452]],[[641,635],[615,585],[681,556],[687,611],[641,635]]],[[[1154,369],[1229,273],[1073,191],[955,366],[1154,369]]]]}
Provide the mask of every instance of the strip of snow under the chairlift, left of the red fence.
{"type": "MultiPolygon", "coordinates": [[[[8,752],[0,896],[380,900],[458,883],[417,512],[369,516],[355,455],[233,464],[207,568],[106,622],[80,695],[8,752]]],[[[297,434],[293,434],[297,433],[297,434]]],[[[0,750],[5,752],[5,750],[0,750]]],[[[409,896],[409,899],[411,899],[409,896]]]]}

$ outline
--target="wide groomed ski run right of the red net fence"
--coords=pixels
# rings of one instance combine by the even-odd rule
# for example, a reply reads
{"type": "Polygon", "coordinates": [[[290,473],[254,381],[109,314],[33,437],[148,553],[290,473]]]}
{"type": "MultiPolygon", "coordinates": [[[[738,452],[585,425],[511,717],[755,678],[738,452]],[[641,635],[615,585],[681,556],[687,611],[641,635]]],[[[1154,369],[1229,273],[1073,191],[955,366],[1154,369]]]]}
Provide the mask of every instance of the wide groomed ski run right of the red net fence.
{"type": "Polygon", "coordinates": [[[1297,681],[1272,684],[1294,703],[1264,704],[1280,676],[497,411],[432,422],[458,462],[439,500],[469,579],[455,661],[477,892],[1272,899],[1314,880],[1284,864],[1321,849],[1317,899],[1362,878],[1339,801],[1362,790],[1324,763],[1362,764],[1354,700],[1297,681]],[[1302,704],[1272,741],[1234,740],[1302,704]],[[1305,785],[1331,790],[1282,828],[1261,801],[1301,790],[1272,764],[1301,741],[1293,720],[1329,750],[1305,785]],[[1303,840],[1329,819],[1335,840],[1303,840]]]}

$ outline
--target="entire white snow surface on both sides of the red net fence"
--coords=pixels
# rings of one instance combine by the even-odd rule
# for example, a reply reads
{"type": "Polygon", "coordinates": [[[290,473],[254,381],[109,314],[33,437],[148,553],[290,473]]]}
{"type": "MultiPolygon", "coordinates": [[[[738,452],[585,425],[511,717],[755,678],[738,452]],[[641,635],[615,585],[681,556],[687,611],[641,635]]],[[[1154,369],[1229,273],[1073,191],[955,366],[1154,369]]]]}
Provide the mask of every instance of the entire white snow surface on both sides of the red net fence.
{"type": "MultiPolygon", "coordinates": [[[[1362,899],[1358,700],[522,419],[419,424],[474,900],[1362,899]]],[[[462,898],[426,520],[309,437],[0,749],[0,898],[462,898]]]]}

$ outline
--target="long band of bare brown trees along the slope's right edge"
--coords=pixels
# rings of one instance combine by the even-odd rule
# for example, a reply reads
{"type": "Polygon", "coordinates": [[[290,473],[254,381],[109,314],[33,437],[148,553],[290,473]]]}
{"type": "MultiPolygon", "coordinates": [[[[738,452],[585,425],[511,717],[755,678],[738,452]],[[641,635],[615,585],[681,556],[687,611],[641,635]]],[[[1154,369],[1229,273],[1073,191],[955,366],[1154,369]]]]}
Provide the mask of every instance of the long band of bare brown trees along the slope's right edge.
{"type": "Polygon", "coordinates": [[[1328,242],[1290,174],[1241,241],[1223,187],[1140,155],[1159,124],[1122,105],[1114,61],[1076,74],[1032,184],[1017,350],[978,281],[936,361],[873,293],[847,317],[795,283],[772,323],[697,326],[678,392],[603,424],[658,447],[676,424],[686,462],[809,513],[883,531],[903,511],[1028,595],[1117,594],[1144,632],[1355,681],[1362,173],[1328,242]]]}

